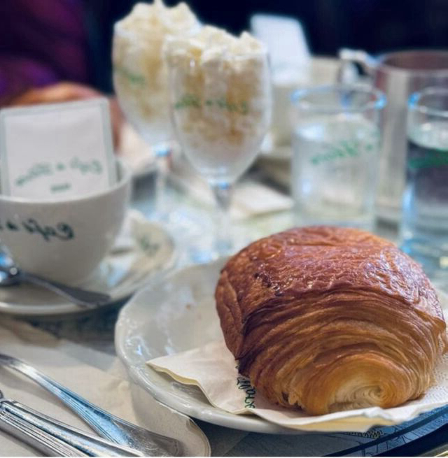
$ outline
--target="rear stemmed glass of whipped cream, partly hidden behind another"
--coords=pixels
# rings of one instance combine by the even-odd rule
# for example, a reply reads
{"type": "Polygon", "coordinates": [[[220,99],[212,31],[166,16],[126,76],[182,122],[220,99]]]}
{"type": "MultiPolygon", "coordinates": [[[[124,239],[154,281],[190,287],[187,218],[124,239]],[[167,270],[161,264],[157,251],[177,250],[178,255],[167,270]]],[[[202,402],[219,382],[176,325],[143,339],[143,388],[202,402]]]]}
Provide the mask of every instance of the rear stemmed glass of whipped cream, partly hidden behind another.
{"type": "Polygon", "coordinates": [[[186,36],[199,24],[186,3],[169,8],[162,0],[137,3],[113,29],[113,85],[127,120],[155,151],[155,208],[165,213],[163,196],[174,133],[162,47],[168,36],[186,36]]]}

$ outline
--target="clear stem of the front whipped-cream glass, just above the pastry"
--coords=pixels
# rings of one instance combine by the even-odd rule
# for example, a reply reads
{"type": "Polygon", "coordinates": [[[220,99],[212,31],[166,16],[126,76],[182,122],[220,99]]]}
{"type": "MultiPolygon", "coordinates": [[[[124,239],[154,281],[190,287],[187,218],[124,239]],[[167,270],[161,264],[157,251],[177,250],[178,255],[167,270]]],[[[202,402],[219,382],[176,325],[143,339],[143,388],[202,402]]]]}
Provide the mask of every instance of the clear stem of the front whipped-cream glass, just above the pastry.
{"type": "Polygon", "coordinates": [[[216,201],[215,217],[215,249],[218,255],[230,255],[233,248],[232,231],[230,227],[230,202],[232,201],[233,185],[216,183],[211,185],[216,201]]]}

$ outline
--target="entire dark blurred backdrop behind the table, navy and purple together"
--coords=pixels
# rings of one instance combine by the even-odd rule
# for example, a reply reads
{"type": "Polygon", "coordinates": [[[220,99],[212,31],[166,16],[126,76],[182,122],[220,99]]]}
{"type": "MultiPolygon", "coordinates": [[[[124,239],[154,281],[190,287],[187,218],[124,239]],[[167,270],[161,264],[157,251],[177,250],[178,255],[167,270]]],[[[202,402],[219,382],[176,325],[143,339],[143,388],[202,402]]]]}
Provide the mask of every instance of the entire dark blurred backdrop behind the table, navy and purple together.
{"type": "MultiPolygon", "coordinates": [[[[111,37],[134,0],[1,0],[0,102],[31,85],[71,80],[111,92],[111,37]],[[31,71],[30,71],[31,69],[31,71]]],[[[168,5],[177,1],[167,0],[168,5]]],[[[315,55],[447,48],[447,0],[190,0],[203,22],[239,33],[253,13],[302,23],[315,55]]]]}

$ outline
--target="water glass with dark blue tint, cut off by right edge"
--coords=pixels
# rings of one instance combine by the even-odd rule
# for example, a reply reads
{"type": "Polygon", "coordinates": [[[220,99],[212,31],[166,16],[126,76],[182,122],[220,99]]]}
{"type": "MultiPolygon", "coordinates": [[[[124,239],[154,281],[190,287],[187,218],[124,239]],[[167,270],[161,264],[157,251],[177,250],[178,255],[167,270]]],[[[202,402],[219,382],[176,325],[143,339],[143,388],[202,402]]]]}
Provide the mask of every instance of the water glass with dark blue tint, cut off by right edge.
{"type": "MultiPolygon", "coordinates": [[[[448,286],[448,89],[409,97],[402,249],[448,286]]],[[[440,284],[442,282],[442,284],[440,284]]]]}

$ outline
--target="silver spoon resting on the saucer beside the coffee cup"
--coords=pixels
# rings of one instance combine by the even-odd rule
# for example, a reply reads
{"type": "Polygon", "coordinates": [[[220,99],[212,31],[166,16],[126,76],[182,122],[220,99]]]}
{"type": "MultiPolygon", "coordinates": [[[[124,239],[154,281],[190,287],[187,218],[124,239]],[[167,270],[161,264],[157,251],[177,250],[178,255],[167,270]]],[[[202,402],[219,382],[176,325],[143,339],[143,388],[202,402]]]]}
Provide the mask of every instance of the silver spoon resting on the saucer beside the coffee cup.
{"type": "Polygon", "coordinates": [[[21,282],[29,282],[33,285],[50,289],[50,291],[82,307],[103,306],[111,302],[111,296],[109,294],[64,285],[53,280],[47,280],[34,273],[22,271],[12,264],[12,261],[7,255],[0,253],[0,287],[17,285],[21,282]]]}

